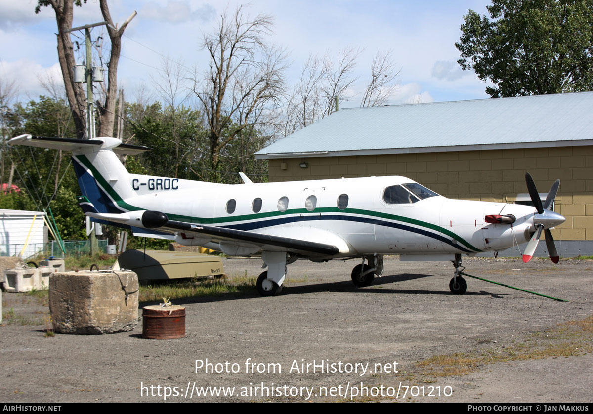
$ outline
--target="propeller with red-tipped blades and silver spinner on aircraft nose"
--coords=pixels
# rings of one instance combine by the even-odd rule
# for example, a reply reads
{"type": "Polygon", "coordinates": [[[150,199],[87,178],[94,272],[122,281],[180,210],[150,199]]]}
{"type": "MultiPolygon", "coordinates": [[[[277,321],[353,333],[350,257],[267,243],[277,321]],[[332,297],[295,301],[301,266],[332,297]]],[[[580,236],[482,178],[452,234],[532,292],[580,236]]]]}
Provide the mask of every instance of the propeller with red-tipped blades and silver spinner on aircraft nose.
{"type": "Polygon", "coordinates": [[[531,202],[533,202],[537,214],[533,215],[533,222],[535,224],[536,230],[533,234],[533,237],[531,237],[531,240],[527,244],[527,247],[525,247],[525,251],[523,253],[523,262],[527,263],[531,260],[531,257],[533,257],[537,243],[540,241],[541,231],[543,230],[546,237],[546,247],[548,250],[548,255],[550,256],[550,260],[554,263],[558,263],[560,257],[558,256],[558,251],[556,250],[556,245],[554,244],[554,238],[552,237],[552,233],[549,228],[554,227],[556,224],[562,224],[565,221],[563,216],[550,211],[550,206],[554,202],[554,199],[556,199],[556,194],[558,193],[558,188],[560,187],[560,180],[554,181],[554,184],[552,184],[550,187],[550,191],[548,192],[543,205],[541,203],[540,195],[537,192],[537,187],[535,187],[535,183],[533,178],[531,178],[530,173],[525,173],[525,182],[527,183],[527,190],[529,191],[531,202]]]}

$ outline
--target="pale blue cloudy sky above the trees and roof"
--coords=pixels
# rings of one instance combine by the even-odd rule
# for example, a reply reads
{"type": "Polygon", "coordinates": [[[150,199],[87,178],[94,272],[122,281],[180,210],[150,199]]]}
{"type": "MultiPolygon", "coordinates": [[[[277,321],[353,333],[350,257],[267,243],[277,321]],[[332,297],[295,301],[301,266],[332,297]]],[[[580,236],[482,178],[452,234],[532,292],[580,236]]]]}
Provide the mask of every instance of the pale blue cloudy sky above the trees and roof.
{"type": "MultiPolygon", "coordinates": [[[[60,78],[56,52],[56,21],[51,8],[34,13],[37,0],[0,0],[0,81],[17,82],[20,100],[43,94],[40,78],[60,78]]],[[[185,68],[203,71],[206,53],[200,48],[203,33],[211,33],[219,15],[234,11],[240,1],[110,0],[111,17],[123,23],[138,15],[123,37],[119,85],[129,99],[142,88],[154,93],[154,81],[167,57],[185,68]]],[[[486,84],[474,72],[457,65],[463,15],[468,9],[486,14],[488,0],[254,0],[248,14],[273,17],[270,42],[289,53],[288,81],[302,70],[309,56],[337,56],[345,47],[364,49],[348,101],[359,106],[372,59],[391,50],[401,68],[400,87],[389,103],[452,101],[487,98],[486,84]]],[[[102,21],[98,0],[75,8],[74,26],[102,21]]],[[[93,38],[101,29],[93,29],[93,38]]],[[[84,33],[78,32],[80,43],[84,33]]],[[[82,45],[81,45],[82,46],[82,45]]],[[[84,46],[82,46],[84,49],[84,46]]],[[[82,59],[81,62],[82,63],[82,59]]],[[[158,98],[157,98],[158,99],[158,98]]]]}

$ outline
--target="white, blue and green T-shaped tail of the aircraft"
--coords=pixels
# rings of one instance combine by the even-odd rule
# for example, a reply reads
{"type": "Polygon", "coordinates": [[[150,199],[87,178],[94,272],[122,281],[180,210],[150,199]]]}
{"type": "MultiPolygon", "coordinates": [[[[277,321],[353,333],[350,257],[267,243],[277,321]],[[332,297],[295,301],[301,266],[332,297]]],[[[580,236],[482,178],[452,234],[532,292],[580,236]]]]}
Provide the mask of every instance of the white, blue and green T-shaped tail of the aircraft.
{"type": "Polygon", "coordinates": [[[149,151],[148,147],[122,144],[117,138],[66,139],[31,135],[17,136],[9,144],[71,151],[78,185],[95,211],[118,214],[136,209],[124,201],[136,196],[136,192],[130,184],[130,174],[116,153],[140,154],[149,151]]]}

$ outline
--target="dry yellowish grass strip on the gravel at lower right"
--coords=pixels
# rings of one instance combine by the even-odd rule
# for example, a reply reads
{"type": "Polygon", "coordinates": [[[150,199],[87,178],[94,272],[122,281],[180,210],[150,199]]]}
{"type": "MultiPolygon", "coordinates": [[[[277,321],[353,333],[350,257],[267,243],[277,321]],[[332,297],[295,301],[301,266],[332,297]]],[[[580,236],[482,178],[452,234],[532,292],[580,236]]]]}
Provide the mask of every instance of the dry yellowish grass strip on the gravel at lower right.
{"type": "Polygon", "coordinates": [[[558,358],[593,352],[593,315],[568,321],[543,332],[528,335],[524,342],[481,352],[435,355],[416,363],[416,374],[428,377],[460,376],[476,372],[487,364],[528,359],[558,358]]]}

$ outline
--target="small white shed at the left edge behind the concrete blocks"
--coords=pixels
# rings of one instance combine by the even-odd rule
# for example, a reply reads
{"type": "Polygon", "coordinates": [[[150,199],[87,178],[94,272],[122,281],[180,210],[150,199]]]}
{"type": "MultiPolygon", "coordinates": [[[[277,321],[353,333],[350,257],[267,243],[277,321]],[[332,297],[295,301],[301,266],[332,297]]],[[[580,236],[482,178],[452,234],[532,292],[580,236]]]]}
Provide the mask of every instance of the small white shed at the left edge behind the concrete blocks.
{"type": "Polygon", "coordinates": [[[31,257],[47,243],[45,213],[0,209],[0,256],[31,257]]]}

